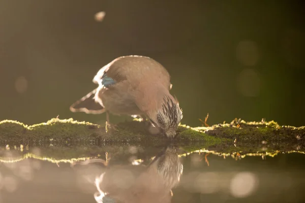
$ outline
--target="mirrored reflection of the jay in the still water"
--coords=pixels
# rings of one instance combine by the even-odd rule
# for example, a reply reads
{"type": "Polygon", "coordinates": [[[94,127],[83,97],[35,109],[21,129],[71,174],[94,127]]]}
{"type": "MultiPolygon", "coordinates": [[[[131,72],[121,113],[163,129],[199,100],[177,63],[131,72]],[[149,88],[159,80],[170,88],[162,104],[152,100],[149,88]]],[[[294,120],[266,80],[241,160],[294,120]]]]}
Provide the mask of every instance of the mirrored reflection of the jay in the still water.
{"type": "Polygon", "coordinates": [[[99,193],[95,199],[99,203],[171,202],[171,189],[178,185],[183,171],[176,149],[167,146],[145,167],[109,166],[96,179],[99,193]]]}

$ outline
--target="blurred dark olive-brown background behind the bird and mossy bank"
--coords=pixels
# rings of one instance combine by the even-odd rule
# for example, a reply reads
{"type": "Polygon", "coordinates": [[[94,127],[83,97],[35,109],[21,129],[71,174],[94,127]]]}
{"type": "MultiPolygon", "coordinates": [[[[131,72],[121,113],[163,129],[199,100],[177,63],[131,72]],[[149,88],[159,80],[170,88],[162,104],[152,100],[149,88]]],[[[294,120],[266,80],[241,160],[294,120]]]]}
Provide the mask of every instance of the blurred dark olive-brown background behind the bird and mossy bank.
{"type": "Polygon", "coordinates": [[[0,120],[104,122],[69,107],[96,87],[102,66],[145,55],[171,74],[184,124],[209,113],[209,124],[305,125],[304,9],[271,0],[0,0],[0,120]]]}

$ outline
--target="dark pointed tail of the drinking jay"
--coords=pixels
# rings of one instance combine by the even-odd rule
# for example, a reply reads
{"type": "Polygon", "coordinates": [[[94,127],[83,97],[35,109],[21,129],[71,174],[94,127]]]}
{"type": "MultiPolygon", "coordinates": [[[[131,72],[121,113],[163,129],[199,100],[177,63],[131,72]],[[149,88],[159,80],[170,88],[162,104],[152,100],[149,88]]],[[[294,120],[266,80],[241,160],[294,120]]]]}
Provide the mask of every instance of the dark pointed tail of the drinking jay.
{"type": "Polygon", "coordinates": [[[97,89],[89,92],[81,99],[75,101],[73,105],[70,106],[70,111],[72,112],[85,112],[86,114],[101,114],[106,110],[99,103],[96,103],[94,95],[97,89]]]}

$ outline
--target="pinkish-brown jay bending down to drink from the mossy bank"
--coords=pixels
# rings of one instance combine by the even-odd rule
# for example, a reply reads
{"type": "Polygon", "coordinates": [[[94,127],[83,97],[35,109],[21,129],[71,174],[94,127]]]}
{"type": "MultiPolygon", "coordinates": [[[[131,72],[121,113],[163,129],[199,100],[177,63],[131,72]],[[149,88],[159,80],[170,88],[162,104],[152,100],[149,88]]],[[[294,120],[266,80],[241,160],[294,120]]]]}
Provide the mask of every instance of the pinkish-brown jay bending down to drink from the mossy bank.
{"type": "MultiPolygon", "coordinates": [[[[102,67],[93,82],[99,86],[70,106],[72,112],[145,116],[168,138],[182,119],[179,103],[169,90],[170,75],[146,56],[121,56],[102,67]]],[[[109,121],[108,121],[109,122],[109,121]]]]}

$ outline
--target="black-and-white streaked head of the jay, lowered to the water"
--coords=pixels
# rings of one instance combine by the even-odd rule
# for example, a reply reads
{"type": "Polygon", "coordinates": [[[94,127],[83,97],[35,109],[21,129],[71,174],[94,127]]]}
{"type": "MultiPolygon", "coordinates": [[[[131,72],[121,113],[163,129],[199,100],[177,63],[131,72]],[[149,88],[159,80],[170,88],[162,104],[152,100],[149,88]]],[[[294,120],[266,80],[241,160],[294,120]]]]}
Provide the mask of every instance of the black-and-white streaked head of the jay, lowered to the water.
{"type": "Polygon", "coordinates": [[[150,121],[156,127],[161,128],[168,138],[174,138],[177,127],[182,119],[182,110],[179,107],[177,99],[167,94],[163,97],[162,104],[157,112],[149,117],[150,121]]]}

